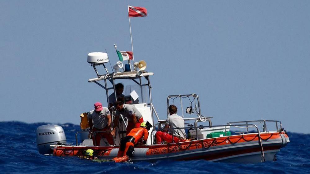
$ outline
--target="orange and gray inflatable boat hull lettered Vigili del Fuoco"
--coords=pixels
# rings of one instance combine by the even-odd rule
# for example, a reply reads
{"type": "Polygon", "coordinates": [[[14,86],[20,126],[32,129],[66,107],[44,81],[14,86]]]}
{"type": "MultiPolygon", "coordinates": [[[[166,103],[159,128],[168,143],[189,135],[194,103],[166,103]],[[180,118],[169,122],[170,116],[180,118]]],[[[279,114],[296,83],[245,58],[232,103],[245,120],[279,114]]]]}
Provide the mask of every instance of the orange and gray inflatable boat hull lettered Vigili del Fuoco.
{"type": "MultiPolygon", "coordinates": [[[[272,161],[275,154],[289,142],[285,132],[245,134],[208,138],[165,145],[138,145],[132,161],[198,160],[229,163],[259,163],[272,161]]],[[[82,156],[86,149],[96,151],[98,158],[116,157],[119,146],[54,146],[54,156],[82,156]]]]}

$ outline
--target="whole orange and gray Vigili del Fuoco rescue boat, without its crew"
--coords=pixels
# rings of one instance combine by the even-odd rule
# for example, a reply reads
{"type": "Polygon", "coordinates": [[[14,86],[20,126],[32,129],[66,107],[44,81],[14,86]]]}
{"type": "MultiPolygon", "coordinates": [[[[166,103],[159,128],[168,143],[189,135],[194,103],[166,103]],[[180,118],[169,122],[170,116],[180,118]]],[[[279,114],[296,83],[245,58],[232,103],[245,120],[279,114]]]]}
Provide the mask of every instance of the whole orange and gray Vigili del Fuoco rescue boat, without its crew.
{"type": "MultiPolygon", "coordinates": [[[[95,56],[98,55],[95,54],[95,56]]],[[[179,109],[182,110],[183,115],[183,103],[189,99],[189,107],[186,108],[185,125],[183,127],[187,132],[188,140],[185,142],[155,144],[155,132],[163,130],[162,127],[165,125],[166,120],[159,119],[152,103],[150,76],[153,73],[139,70],[109,74],[105,68],[106,74],[99,75],[95,66],[104,65],[104,63],[96,62],[102,60],[101,58],[91,58],[93,58],[93,61],[88,57],[88,62],[91,63],[98,77],[89,79],[88,82],[96,83],[106,91],[107,103],[109,103],[109,92],[115,91],[116,80],[132,82],[134,85],[125,87],[125,102],[134,105],[142,114],[144,121],[148,121],[153,125],[153,130],[149,131],[146,145],[135,146],[132,161],[205,159],[230,163],[260,163],[275,160],[276,153],[279,152],[280,148],[290,142],[281,121],[254,120],[212,125],[211,118],[213,117],[205,117],[201,114],[199,96],[189,94],[171,95],[167,98],[167,115],[171,101],[174,105],[176,105],[176,102],[180,102],[181,107],[179,109]],[[99,81],[103,81],[104,84],[99,83],[99,81]],[[110,86],[108,86],[108,82],[110,86]],[[154,122],[154,117],[157,118],[156,122],[154,122]],[[198,123],[207,123],[207,125],[198,125],[198,123]],[[268,128],[273,127],[274,130],[267,130],[267,125],[268,128]],[[263,130],[260,130],[261,128],[263,130]]],[[[104,60],[106,63],[106,58],[104,60]]],[[[145,62],[143,62],[143,66],[143,69],[145,69],[145,62]]],[[[114,119],[114,107],[111,108],[111,111],[112,119],[114,119]]],[[[95,156],[98,158],[115,158],[120,140],[126,136],[128,123],[126,118],[122,117],[122,115],[120,117],[120,123],[114,136],[114,145],[108,145],[106,140],[102,138],[100,145],[94,146],[92,139],[88,138],[87,129],[76,132],[76,145],[67,145],[65,144],[65,132],[61,126],[43,125],[37,128],[38,150],[41,154],[64,157],[83,156],[87,149],[93,149],[95,156]],[[78,136],[80,137],[78,138],[78,136]]],[[[172,131],[171,128],[169,128],[169,131],[172,131]]]]}

